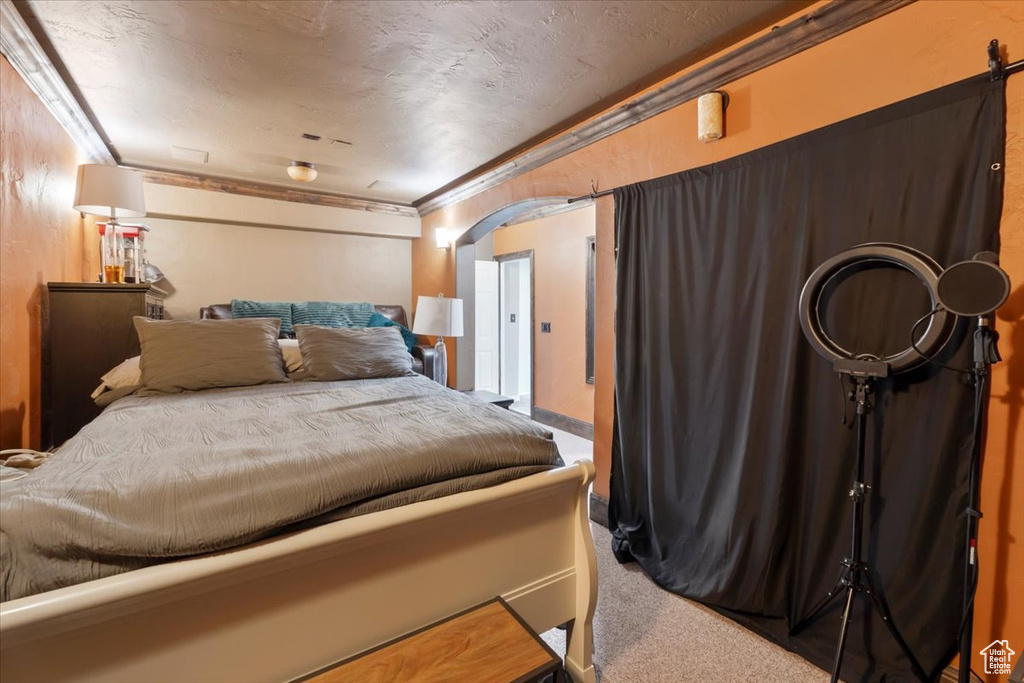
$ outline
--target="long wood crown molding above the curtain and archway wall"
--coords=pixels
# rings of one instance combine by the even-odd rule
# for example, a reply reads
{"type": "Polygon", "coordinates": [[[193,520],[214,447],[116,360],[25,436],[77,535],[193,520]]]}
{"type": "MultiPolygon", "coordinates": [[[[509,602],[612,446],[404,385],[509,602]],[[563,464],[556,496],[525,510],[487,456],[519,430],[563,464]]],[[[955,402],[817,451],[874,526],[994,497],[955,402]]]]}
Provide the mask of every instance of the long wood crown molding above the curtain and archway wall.
{"type": "Polygon", "coordinates": [[[628,99],[575,128],[551,137],[513,159],[427,195],[414,202],[413,206],[424,216],[462,202],[912,2],[914,0],[833,0],[654,90],[628,99]]]}

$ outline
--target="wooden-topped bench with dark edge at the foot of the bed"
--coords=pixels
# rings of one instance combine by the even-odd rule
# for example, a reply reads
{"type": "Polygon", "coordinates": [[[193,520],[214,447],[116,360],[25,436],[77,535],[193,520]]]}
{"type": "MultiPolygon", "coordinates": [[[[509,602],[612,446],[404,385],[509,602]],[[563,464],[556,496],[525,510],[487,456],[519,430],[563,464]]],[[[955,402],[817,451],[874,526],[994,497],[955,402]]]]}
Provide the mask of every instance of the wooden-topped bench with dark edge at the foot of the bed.
{"type": "Polygon", "coordinates": [[[300,679],[305,683],[562,683],[562,661],[501,598],[300,679]]]}

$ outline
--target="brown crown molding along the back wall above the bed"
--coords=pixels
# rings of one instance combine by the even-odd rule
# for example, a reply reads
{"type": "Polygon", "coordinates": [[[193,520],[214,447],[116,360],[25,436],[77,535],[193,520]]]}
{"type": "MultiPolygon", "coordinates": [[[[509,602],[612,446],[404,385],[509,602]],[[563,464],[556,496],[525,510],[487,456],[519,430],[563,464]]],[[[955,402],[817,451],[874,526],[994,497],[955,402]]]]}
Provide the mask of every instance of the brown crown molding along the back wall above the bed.
{"type": "Polygon", "coordinates": [[[357,197],[311,193],[304,189],[292,189],[290,187],[279,187],[278,185],[245,182],[242,180],[218,178],[214,176],[200,175],[197,173],[162,171],[159,169],[131,165],[124,166],[125,168],[133,168],[141,173],[143,182],[153,182],[160,185],[172,185],[174,187],[186,187],[188,189],[206,189],[214,193],[227,193],[229,195],[242,195],[244,197],[258,197],[260,199],[296,202],[298,204],[314,204],[316,206],[332,207],[335,209],[370,211],[373,213],[404,216],[408,218],[419,218],[420,216],[415,208],[404,204],[390,204],[388,202],[378,202],[357,197]]]}

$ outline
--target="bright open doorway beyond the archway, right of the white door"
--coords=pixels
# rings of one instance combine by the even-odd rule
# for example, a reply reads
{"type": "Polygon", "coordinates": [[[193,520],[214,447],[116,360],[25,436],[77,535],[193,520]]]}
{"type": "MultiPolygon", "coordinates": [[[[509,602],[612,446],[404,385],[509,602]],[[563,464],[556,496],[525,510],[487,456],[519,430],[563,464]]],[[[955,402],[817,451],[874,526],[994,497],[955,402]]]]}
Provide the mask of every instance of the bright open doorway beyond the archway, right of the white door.
{"type": "Polygon", "coordinates": [[[499,391],[511,410],[532,416],[534,253],[497,257],[499,299],[499,391]]]}

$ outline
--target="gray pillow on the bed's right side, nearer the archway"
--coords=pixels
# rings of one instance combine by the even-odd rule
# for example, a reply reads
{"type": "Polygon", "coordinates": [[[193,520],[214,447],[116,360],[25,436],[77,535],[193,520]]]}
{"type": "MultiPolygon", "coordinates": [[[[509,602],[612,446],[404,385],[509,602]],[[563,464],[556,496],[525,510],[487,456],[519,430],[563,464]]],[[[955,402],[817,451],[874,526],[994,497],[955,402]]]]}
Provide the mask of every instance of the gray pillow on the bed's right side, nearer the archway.
{"type": "Polygon", "coordinates": [[[413,356],[398,328],[296,325],[295,335],[310,379],[367,380],[413,374],[413,356]]]}

